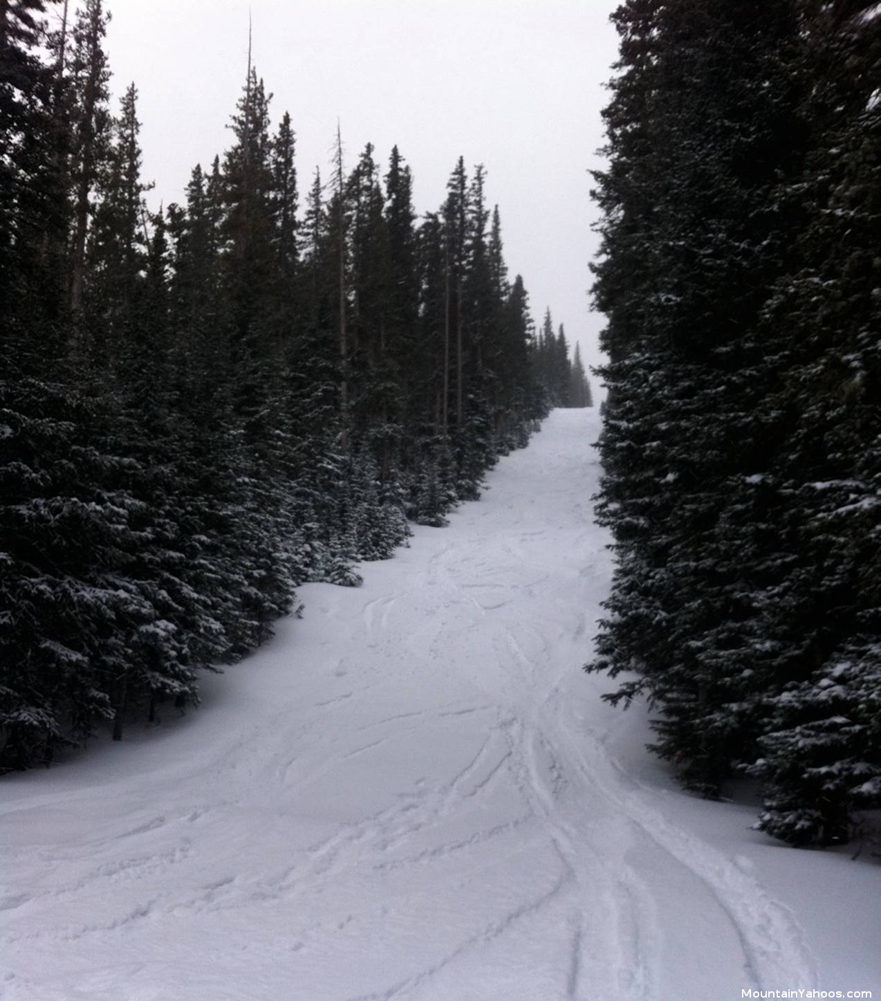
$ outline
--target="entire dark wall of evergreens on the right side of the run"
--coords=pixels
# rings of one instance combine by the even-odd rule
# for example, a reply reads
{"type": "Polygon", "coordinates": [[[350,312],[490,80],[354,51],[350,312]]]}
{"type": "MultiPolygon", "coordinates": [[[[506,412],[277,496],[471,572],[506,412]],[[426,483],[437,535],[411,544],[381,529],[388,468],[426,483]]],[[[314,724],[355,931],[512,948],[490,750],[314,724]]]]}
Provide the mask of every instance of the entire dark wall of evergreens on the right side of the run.
{"type": "Polygon", "coordinates": [[[628,0],[594,294],[590,670],[646,695],[692,788],[762,780],[761,830],[881,805],[881,10],[628,0]]]}

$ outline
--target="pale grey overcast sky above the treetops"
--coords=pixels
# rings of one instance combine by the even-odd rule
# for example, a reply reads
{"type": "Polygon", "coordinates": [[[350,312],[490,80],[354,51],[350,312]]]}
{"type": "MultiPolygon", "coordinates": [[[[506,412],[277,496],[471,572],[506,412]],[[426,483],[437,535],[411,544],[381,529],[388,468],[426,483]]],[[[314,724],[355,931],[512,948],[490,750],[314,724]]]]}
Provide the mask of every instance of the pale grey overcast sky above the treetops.
{"type": "MultiPolygon", "coordinates": [[[[617,51],[618,0],[106,0],[117,98],[139,93],[148,195],[183,202],[192,167],[230,141],[253,62],[272,127],[289,111],[301,194],[330,173],[337,119],[347,166],[367,142],[387,163],[396,144],[414,178],[416,211],[444,200],[456,161],[487,169],[511,277],[521,273],[541,322],[599,354],[589,311],[597,211],[588,170],[603,142],[600,109],[617,51]]],[[[301,199],[302,200],[302,199],[301,199]]],[[[593,380],[592,381],[596,381],[593,380]]]]}

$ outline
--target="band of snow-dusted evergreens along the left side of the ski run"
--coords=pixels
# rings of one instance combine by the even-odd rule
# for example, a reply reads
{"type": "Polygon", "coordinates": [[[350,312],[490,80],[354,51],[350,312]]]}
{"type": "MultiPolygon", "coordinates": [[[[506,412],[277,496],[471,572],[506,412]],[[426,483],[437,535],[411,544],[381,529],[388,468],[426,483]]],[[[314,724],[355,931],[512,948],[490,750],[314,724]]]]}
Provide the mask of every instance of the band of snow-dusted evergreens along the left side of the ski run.
{"type": "Polygon", "coordinates": [[[150,212],[108,16],[0,4],[0,771],[195,704],[564,401],[483,167],[417,221],[397,149],[337,136],[301,197],[249,65],[230,148],[150,212]]]}

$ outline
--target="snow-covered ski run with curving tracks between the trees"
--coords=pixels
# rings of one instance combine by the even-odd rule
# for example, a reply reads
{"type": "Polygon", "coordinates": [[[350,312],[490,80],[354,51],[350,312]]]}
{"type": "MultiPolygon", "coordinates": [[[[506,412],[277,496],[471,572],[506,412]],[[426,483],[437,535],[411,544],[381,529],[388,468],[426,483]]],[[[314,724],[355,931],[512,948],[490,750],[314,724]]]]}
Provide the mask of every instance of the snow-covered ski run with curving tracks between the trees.
{"type": "Polygon", "coordinates": [[[3,1001],[881,997],[881,866],[679,790],[585,675],[593,411],[203,708],[2,784],[3,1001]]]}

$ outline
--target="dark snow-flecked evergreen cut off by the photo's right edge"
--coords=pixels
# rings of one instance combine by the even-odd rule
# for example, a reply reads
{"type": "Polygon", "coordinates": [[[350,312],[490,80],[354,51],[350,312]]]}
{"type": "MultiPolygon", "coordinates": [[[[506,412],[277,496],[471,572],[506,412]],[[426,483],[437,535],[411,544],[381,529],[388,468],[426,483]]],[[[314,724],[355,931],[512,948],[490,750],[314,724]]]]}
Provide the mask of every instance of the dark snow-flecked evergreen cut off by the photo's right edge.
{"type": "Polygon", "coordinates": [[[786,197],[806,221],[765,317],[786,356],[769,402],[787,418],[775,472],[797,559],[768,610],[791,640],[752,771],[768,784],[762,830],[830,844],[881,803],[881,21],[866,3],[804,6],[811,152],[786,197]]]}

